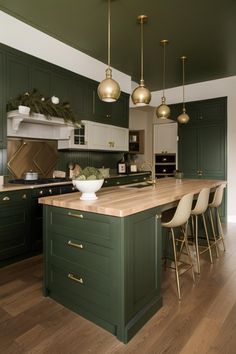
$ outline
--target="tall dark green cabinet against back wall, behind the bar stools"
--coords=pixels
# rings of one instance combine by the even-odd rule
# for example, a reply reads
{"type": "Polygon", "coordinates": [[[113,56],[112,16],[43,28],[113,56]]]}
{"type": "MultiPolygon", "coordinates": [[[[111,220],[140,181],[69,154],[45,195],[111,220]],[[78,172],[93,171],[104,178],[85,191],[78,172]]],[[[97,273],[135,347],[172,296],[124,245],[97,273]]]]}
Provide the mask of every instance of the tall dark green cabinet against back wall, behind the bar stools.
{"type": "MultiPolygon", "coordinates": [[[[181,105],[170,106],[176,119],[181,105]]],[[[187,178],[226,179],[227,99],[187,102],[190,121],[178,127],[178,168],[187,178]]]]}

